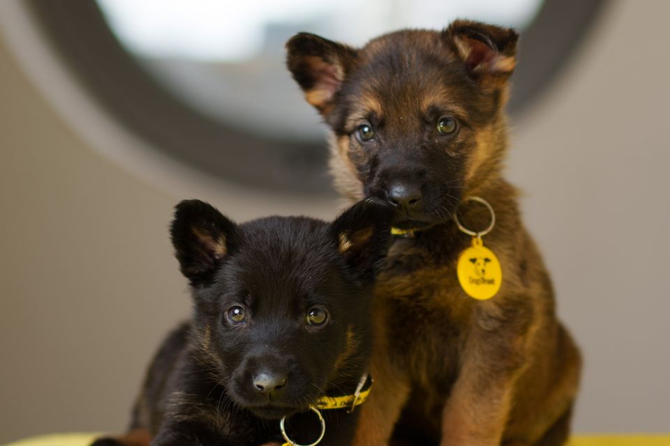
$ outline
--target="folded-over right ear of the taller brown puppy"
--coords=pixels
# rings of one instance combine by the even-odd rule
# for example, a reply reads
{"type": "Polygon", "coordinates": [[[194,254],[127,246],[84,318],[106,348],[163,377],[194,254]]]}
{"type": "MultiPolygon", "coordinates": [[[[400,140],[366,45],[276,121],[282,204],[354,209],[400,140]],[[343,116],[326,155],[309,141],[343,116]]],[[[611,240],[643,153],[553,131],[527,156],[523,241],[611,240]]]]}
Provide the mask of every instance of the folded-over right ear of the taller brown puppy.
{"type": "Polygon", "coordinates": [[[516,43],[519,34],[469,20],[456,20],[442,36],[473,77],[487,86],[502,87],[516,67],[516,43]]]}

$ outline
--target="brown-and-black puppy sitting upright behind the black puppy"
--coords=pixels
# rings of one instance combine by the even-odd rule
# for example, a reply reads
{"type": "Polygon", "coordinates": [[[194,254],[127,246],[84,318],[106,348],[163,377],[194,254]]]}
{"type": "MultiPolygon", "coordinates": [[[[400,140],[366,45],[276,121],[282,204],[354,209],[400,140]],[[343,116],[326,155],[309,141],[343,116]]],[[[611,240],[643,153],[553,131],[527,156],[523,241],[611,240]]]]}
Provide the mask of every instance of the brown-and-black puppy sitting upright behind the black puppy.
{"type": "Polygon", "coordinates": [[[301,62],[305,48],[312,61],[320,55],[343,73],[318,109],[333,130],[331,167],[344,197],[383,197],[387,192],[375,189],[374,180],[391,157],[397,165],[415,162],[425,169],[431,153],[449,160],[446,170],[426,180],[442,183],[435,195],[441,208],[415,238],[396,238],[378,280],[375,392],[362,408],[355,445],[563,444],[581,359],[556,318],[551,280],[521,222],[517,192],[502,177],[508,146],[503,108],[516,65],[516,33],[458,21],[442,33],[391,33],[362,49],[325,39],[319,46],[319,39],[304,33],[293,38],[288,66],[308,98],[321,84],[319,73],[301,62]],[[456,117],[454,136],[426,136],[431,107],[456,117]],[[355,137],[362,122],[377,130],[374,141],[355,137]],[[445,189],[449,182],[454,185],[445,189]],[[450,214],[484,229],[489,214],[463,201],[475,195],[496,210],[484,245],[503,271],[498,295],[486,301],[469,298],[456,278],[456,261],[471,238],[450,214]]]}

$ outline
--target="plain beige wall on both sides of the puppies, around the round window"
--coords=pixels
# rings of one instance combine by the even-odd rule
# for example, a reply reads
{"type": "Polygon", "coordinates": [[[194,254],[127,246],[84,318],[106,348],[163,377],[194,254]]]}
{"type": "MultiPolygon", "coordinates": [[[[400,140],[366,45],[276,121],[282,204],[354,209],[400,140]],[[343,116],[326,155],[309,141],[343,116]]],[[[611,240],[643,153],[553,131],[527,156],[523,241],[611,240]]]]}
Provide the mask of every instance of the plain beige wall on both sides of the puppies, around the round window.
{"type": "MultiPolygon", "coordinates": [[[[577,431],[670,431],[667,17],[668,2],[613,3],[515,123],[510,177],[586,356],[577,431]]],[[[149,357],[188,316],[167,231],[179,199],[237,220],[336,212],[128,173],[59,118],[1,40],[0,98],[0,443],[125,427],[149,357]]]]}

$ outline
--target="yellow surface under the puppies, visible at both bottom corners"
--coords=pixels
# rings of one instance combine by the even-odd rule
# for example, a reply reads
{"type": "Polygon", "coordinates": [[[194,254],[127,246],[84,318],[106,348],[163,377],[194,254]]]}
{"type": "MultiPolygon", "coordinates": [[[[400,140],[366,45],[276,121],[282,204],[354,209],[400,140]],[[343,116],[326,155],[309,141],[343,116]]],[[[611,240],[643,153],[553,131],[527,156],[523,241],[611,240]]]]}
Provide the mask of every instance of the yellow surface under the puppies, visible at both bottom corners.
{"type": "MultiPolygon", "coordinates": [[[[96,438],[95,433],[61,433],[27,438],[6,446],[88,446],[96,438]]],[[[575,436],[567,446],[670,446],[667,435],[600,435],[575,436]]]]}

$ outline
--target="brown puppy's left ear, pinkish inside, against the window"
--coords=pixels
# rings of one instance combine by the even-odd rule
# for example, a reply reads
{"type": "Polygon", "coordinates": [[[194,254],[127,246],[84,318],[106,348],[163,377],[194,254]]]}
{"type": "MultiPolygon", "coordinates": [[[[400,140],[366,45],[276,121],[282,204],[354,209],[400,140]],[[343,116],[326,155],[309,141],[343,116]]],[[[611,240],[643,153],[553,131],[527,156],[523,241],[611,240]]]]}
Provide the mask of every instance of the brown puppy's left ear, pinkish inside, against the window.
{"type": "Polygon", "coordinates": [[[356,59],[356,50],[310,33],[293,36],[286,49],[286,64],[305,99],[321,114],[327,114],[356,59]]]}

